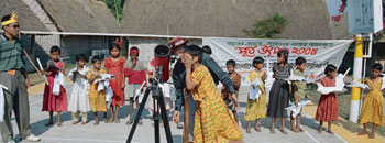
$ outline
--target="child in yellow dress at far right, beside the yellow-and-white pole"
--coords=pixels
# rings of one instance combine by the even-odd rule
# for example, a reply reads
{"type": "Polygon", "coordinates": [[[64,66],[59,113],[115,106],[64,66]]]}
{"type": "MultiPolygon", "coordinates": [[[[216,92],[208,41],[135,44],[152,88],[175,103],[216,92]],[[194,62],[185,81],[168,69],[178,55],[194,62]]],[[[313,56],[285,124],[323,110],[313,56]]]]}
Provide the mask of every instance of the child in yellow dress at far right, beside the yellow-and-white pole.
{"type": "Polygon", "coordinates": [[[372,66],[372,77],[366,80],[370,91],[362,106],[360,123],[363,123],[362,132],[359,135],[366,134],[367,123],[373,123],[372,133],[370,139],[374,139],[376,129],[378,125],[384,125],[384,98],[381,90],[382,78],[380,77],[383,66],[381,64],[374,64],[372,66]]]}

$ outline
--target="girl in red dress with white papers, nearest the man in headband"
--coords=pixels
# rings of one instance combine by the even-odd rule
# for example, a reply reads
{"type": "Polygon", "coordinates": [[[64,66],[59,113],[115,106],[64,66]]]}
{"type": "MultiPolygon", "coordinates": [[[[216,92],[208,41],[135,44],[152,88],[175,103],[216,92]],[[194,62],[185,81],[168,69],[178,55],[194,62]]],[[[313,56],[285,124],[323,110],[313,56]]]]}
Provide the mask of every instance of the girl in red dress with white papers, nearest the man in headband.
{"type": "Polygon", "coordinates": [[[48,84],[45,84],[44,88],[42,111],[50,111],[50,121],[45,124],[46,127],[54,124],[54,111],[57,112],[57,127],[62,127],[61,116],[62,112],[67,111],[67,94],[64,88],[64,78],[59,78],[63,77],[65,69],[65,63],[61,59],[61,47],[52,46],[51,57],[52,59],[47,62],[47,73],[42,72],[43,74],[46,74],[48,80],[48,84]],[[61,81],[57,81],[57,79],[61,79],[61,81]],[[55,85],[59,86],[58,94],[54,94],[55,85]]]}

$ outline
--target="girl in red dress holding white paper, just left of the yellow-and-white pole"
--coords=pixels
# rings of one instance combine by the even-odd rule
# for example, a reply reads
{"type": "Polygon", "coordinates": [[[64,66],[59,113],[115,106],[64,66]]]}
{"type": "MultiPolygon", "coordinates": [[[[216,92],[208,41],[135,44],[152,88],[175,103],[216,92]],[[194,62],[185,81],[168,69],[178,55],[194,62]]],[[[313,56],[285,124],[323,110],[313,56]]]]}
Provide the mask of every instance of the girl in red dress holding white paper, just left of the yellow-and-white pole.
{"type": "MultiPolygon", "coordinates": [[[[332,64],[329,64],[324,68],[326,77],[321,78],[319,82],[324,87],[334,87],[336,86],[336,74],[337,67],[332,64]]],[[[331,131],[331,122],[338,119],[338,100],[336,92],[330,92],[328,95],[321,95],[321,98],[318,102],[316,120],[320,122],[318,133],[322,133],[323,122],[328,122],[328,133],[334,134],[331,131]]]]}

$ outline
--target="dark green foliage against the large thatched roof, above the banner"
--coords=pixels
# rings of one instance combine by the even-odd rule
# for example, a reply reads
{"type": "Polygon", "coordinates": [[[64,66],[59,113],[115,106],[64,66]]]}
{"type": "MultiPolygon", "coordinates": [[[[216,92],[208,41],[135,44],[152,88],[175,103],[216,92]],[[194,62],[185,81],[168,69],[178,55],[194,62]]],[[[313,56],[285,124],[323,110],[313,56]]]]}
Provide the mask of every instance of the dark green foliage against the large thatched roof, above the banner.
{"type": "Polygon", "coordinates": [[[286,23],[286,18],[276,13],[267,19],[255,21],[253,28],[243,29],[243,33],[255,38],[273,38],[275,34],[282,33],[286,23]]]}

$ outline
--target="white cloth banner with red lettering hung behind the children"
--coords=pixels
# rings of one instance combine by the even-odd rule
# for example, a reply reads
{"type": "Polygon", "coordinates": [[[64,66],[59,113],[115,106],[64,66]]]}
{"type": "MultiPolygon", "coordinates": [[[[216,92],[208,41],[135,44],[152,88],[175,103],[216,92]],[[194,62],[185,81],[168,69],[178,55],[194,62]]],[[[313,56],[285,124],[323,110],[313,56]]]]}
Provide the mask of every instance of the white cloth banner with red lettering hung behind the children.
{"type": "MultiPolygon", "coordinates": [[[[251,70],[255,56],[265,59],[265,69],[271,73],[273,64],[277,62],[277,52],[289,52],[288,63],[296,68],[295,61],[302,56],[307,59],[306,78],[315,79],[323,73],[328,64],[340,66],[353,40],[252,40],[252,38],[204,38],[202,45],[209,45],[212,57],[226,69],[226,62],[234,59],[235,70],[242,75],[242,85],[251,70]],[[267,66],[270,68],[266,68],[267,66]]],[[[271,75],[271,74],[270,74],[271,75]]]]}

